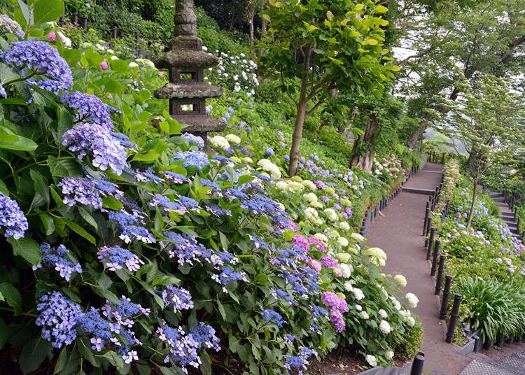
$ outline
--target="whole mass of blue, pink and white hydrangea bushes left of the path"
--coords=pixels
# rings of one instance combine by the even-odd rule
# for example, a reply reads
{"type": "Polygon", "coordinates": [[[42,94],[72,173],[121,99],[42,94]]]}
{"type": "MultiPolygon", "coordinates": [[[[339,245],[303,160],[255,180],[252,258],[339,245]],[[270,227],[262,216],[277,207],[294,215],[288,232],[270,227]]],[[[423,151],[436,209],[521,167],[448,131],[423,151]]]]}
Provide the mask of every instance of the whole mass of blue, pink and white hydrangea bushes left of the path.
{"type": "Polygon", "coordinates": [[[23,372],[300,372],[351,343],[370,365],[413,354],[417,299],[395,297],[403,278],[353,233],[400,183],[398,157],[367,175],[306,143],[301,177],[283,178],[289,128],[265,136],[235,84],[209,108],[229,128],[207,155],[151,97],[165,75],[148,60],[3,20],[0,344],[23,372]]]}

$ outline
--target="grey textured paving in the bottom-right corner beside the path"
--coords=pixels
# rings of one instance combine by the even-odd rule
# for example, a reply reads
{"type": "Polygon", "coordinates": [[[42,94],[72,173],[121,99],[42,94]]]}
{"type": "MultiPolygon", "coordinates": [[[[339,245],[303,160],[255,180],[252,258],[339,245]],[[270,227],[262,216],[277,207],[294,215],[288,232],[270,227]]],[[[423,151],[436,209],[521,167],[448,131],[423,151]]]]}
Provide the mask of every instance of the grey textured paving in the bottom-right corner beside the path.
{"type": "Polygon", "coordinates": [[[524,353],[503,355],[498,360],[472,360],[460,375],[525,375],[524,353]]]}

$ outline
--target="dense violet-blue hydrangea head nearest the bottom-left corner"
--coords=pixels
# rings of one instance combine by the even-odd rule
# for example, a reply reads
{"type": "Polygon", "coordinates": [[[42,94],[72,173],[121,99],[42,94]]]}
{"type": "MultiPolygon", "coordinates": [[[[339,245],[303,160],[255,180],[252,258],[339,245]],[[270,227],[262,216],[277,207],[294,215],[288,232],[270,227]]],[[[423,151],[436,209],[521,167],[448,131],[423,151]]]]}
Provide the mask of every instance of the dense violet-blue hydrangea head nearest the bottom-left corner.
{"type": "Polygon", "coordinates": [[[78,318],[82,316],[80,305],[56,291],[43,295],[38,302],[36,310],[40,315],[36,325],[42,327],[42,338],[50,341],[53,348],[71,344],[76,339],[78,318]]]}

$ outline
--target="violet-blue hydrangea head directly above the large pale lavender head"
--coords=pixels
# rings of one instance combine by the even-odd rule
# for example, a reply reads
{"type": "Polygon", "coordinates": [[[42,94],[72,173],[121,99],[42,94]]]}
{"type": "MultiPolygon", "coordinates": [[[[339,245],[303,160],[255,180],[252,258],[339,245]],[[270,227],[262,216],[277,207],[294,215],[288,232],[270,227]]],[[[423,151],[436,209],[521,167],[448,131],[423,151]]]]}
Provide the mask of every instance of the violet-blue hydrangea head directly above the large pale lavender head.
{"type": "Polygon", "coordinates": [[[80,122],[92,121],[107,130],[113,130],[113,120],[109,116],[109,106],[98,97],[75,91],[60,98],[62,103],[76,109],[76,120],[80,122]]]}

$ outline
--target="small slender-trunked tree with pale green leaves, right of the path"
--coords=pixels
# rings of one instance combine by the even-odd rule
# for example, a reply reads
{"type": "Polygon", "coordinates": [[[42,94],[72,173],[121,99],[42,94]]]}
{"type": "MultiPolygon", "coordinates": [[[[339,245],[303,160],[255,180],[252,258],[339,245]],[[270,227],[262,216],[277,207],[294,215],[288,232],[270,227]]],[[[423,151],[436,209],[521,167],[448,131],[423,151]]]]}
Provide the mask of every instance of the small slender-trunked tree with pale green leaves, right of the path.
{"type": "MultiPolygon", "coordinates": [[[[461,76],[461,72],[460,72],[461,76]]],[[[463,94],[454,100],[443,100],[449,112],[441,116],[439,130],[463,143],[469,155],[472,201],[467,226],[477,199],[477,186],[499,166],[514,159],[525,141],[525,108],[523,97],[510,90],[510,80],[492,75],[476,76],[475,85],[463,77],[456,89],[463,94]]]]}

